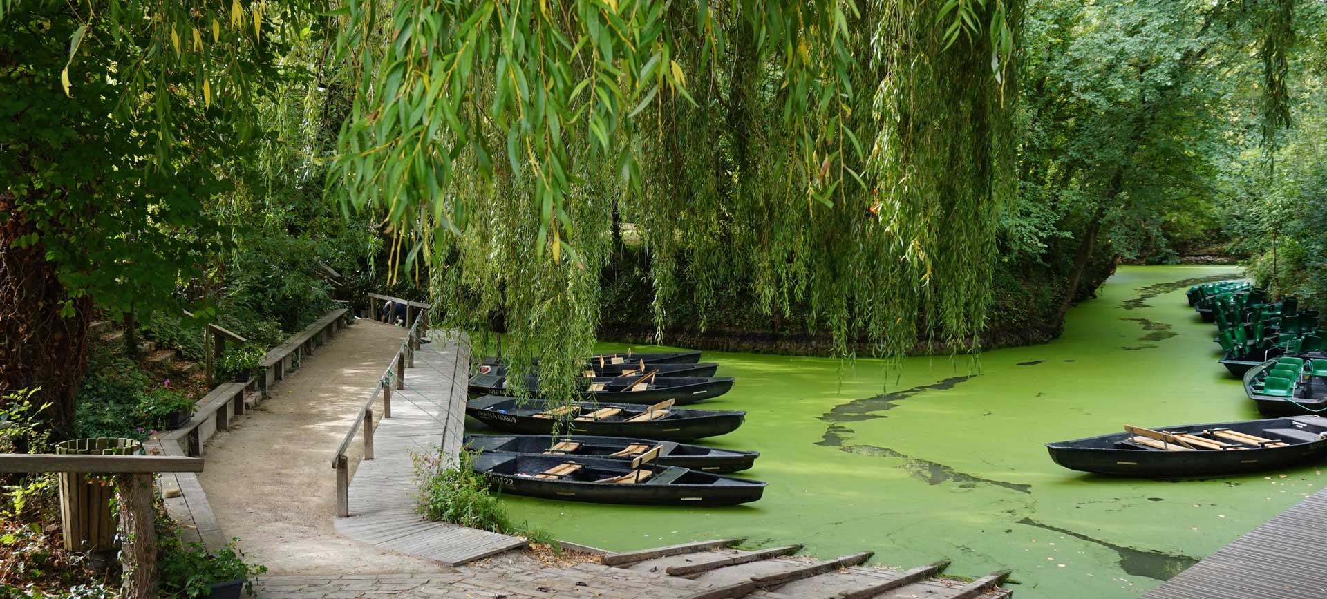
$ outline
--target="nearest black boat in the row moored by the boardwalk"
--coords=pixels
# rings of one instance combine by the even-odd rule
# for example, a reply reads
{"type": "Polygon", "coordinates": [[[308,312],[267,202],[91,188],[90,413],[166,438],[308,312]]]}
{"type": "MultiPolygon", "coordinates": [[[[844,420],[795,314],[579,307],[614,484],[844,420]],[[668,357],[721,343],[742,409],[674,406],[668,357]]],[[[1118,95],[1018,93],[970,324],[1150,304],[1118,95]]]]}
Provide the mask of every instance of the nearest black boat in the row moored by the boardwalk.
{"type": "Polygon", "coordinates": [[[633,505],[736,505],[756,501],[766,484],[687,468],[601,457],[480,453],[474,470],[503,493],[547,500],[633,505]]]}

